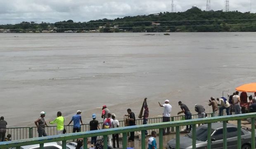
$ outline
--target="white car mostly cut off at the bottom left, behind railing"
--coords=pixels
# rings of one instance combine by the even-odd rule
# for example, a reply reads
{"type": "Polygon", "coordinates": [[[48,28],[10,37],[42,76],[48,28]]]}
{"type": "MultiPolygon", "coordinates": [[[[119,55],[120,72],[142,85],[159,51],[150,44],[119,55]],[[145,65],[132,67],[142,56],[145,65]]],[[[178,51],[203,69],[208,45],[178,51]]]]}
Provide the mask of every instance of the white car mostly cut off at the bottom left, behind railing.
{"type": "MultiPolygon", "coordinates": [[[[45,143],[43,148],[44,149],[62,149],[62,146],[57,142],[49,142],[49,143],[45,143]]],[[[12,147],[11,149],[16,149],[16,147],[12,147]]],[[[20,149],[40,149],[40,145],[39,144],[26,145],[26,146],[21,146],[20,149]]],[[[67,143],[66,149],[76,149],[76,147],[67,143]]]]}

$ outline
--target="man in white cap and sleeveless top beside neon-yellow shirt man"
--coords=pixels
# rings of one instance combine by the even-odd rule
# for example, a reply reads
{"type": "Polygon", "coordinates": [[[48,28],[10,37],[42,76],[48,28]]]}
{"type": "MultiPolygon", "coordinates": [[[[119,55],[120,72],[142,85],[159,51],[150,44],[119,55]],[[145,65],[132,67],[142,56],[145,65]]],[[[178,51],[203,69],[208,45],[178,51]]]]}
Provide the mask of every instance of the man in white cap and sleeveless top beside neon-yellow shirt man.
{"type": "Polygon", "coordinates": [[[45,122],[44,118],[45,114],[46,113],[44,111],[40,112],[41,116],[35,121],[38,137],[47,136],[47,134],[45,133],[45,126],[47,126],[47,123],[45,122]]]}

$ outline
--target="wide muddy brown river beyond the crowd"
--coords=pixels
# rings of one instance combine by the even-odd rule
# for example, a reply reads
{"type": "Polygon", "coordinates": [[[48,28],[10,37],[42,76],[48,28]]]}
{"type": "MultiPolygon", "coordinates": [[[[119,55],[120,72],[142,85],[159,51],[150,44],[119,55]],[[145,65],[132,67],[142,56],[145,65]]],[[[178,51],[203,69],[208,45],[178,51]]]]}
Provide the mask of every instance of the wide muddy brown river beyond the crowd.
{"type": "Polygon", "coordinates": [[[208,113],[211,96],[256,80],[255,33],[145,34],[1,33],[0,115],[9,127],[34,126],[41,111],[47,122],[61,111],[67,124],[80,109],[89,123],[107,105],[122,120],[145,97],[149,117],[165,99],[172,116],[179,100],[208,113]]]}

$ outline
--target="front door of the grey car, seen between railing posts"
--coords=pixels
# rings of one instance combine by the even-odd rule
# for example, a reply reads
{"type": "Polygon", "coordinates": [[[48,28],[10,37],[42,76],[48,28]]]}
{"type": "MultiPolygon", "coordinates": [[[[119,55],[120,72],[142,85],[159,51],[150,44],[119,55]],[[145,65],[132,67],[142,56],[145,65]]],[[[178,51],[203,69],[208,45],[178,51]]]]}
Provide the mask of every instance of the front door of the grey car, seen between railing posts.
{"type": "Polygon", "coordinates": [[[220,128],[213,132],[211,138],[215,139],[215,141],[211,142],[212,149],[223,149],[223,128],[220,128]]]}

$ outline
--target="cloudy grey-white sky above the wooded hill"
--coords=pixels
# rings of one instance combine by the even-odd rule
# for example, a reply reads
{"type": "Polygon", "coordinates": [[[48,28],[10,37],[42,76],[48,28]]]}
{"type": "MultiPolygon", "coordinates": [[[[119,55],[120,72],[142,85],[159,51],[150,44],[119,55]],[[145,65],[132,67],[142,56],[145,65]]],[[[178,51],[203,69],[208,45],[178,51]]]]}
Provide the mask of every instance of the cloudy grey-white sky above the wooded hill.
{"type": "MultiPolygon", "coordinates": [[[[256,0],[229,0],[230,11],[256,12],[256,0]],[[251,7],[250,7],[251,3],[251,7]]],[[[176,12],[197,5],[206,9],[206,0],[174,0],[176,12]]],[[[225,0],[211,0],[211,9],[225,10],[225,0]]],[[[0,0],[0,24],[22,21],[90,21],[171,12],[171,0],[0,0]]]]}

